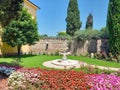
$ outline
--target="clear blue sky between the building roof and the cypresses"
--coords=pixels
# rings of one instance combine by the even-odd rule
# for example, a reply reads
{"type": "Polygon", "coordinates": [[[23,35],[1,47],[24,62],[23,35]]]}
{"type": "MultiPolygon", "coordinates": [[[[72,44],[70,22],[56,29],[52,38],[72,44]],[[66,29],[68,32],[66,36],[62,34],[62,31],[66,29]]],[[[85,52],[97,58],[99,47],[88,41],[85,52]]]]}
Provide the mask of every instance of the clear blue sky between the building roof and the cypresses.
{"type": "MultiPolygon", "coordinates": [[[[56,36],[58,32],[66,30],[67,8],[69,0],[30,0],[40,10],[37,11],[39,34],[56,36]]],[[[78,0],[80,10],[81,29],[85,28],[87,16],[93,14],[93,28],[100,30],[106,26],[107,8],[109,0],[78,0]]]]}

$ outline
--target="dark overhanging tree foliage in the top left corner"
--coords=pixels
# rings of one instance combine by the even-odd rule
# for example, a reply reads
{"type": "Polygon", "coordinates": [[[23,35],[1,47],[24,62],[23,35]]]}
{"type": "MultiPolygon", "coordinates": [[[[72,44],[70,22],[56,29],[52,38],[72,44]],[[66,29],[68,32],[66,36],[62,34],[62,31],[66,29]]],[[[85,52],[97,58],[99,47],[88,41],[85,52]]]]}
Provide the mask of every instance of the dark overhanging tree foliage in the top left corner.
{"type": "Polygon", "coordinates": [[[5,27],[12,19],[17,19],[22,10],[23,0],[0,0],[0,24],[5,27]]]}

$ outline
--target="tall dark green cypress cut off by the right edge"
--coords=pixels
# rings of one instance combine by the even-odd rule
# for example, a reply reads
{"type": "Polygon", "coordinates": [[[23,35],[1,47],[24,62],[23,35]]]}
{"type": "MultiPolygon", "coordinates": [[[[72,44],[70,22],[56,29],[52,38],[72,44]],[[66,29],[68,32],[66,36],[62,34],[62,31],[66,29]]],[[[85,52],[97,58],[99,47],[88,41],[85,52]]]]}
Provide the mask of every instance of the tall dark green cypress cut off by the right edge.
{"type": "Polygon", "coordinates": [[[109,0],[107,29],[110,50],[112,54],[120,55],[120,0],[109,0]]]}

